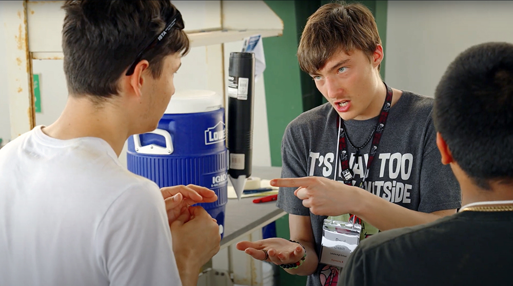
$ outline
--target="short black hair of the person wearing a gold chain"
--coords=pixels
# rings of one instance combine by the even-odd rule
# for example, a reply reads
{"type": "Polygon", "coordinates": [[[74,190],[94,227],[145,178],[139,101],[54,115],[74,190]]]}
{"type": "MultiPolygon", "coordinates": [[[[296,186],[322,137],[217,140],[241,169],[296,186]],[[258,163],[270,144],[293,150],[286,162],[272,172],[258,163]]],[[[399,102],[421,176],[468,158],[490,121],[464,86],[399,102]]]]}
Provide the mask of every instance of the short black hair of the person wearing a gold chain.
{"type": "Polygon", "coordinates": [[[433,121],[478,186],[513,182],[513,44],[484,43],[458,55],[436,89],[433,121]]]}

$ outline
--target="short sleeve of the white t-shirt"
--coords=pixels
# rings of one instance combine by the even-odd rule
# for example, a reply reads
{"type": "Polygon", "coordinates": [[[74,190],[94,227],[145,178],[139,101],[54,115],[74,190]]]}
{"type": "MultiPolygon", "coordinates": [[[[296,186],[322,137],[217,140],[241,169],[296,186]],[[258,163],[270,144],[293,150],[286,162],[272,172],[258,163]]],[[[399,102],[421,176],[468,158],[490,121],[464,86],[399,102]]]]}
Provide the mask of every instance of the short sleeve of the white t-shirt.
{"type": "Polygon", "coordinates": [[[112,203],[95,243],[111,286],[182,285],[164,200],[150,182],[132,186],[112,203]]]}

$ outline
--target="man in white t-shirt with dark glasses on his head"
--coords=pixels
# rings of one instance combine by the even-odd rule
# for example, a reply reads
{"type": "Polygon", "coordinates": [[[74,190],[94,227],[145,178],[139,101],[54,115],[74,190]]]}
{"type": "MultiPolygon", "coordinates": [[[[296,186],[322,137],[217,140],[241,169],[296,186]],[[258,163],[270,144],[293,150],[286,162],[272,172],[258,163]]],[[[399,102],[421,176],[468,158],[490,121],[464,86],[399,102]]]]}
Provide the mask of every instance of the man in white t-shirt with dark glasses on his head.
{"type": "Polygon", "coordinates": [[[169,1],[66,1],[68,102],[0,150],[0,285],[196,285],[219,227],[198,186],[122,168],[156,128],[190,42],[169,1]]]}

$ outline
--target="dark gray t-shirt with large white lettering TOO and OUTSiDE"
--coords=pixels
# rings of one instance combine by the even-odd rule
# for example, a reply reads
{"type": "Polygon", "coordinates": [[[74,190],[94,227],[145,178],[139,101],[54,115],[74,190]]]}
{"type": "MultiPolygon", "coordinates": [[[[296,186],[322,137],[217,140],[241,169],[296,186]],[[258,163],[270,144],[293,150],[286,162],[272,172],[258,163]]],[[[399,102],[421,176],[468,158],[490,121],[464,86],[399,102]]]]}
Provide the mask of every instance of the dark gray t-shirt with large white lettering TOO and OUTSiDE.
{"type": "MultiPolygon", "coordinates": [[[[436,146],[436,131],[431,120],[433,99],[403,91],[390,109],[385,130],[364,188],[387,201],[410,210],[431,213],[461,207],[460,187],[449,166],[441,163],[436,146]]],[[[320,176],[342,181],[343,170],[336,171],[339,115],[329,103],[304,112],[288,125],[282,141],[282,177],[320,176]],[[338,174],[335,174],[337,172],[338,174]],[[337,176],[336,176],[337,175],[337,176]]],[[[378,117],[345,121],[353,146],[369,138],[378,117]]],[[[370,152],[367,144],[354,156],[348,144],[349,167],[354,172],[353,186],[359,186],[367,171],[370,152]]],[[[326,216],[310,213],[294,196],[295,188],[280,188],[277,206],[289,214],[310,216],[316,252],[319,255],[322,226],[326,216]]],[[[348,215],[344,218],[348,219],[348,215]]],[[[362,222],[362,239],[378,230],[362,222]]],[[[308,277],[308,286],[335,286],[338,269],[319,264],[308,277]]]]}

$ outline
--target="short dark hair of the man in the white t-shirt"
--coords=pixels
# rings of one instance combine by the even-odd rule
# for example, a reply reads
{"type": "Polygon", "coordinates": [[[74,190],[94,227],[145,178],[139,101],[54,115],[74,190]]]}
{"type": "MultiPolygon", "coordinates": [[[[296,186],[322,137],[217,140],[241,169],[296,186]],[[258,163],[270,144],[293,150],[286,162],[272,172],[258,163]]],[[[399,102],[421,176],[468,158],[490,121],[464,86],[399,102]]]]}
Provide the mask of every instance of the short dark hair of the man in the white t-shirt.
{"type": "MultiPolygon", "coordinates": [[[[179,11],[170,1],[66,1],[63,25],[64,72],[71,96],[117,95],[118,80],[179,11]]],[[[163,58],[187,54],[190,41],[181,17],[163,42],[143,54],[154,78],[163,58]]]]}

